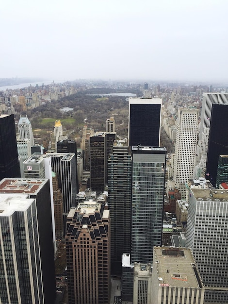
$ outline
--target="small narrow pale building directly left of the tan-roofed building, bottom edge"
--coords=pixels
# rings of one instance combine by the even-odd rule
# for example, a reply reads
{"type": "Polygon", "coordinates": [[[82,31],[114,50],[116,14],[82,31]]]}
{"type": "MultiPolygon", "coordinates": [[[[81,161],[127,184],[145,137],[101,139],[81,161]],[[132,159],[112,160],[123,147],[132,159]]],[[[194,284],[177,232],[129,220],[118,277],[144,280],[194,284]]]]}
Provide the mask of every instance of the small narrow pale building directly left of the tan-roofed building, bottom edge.
{"type": "Polygon", "coordinates": [[[152,296],[152,265],[134,263],[133,303],[150,304],[152,296]]]}

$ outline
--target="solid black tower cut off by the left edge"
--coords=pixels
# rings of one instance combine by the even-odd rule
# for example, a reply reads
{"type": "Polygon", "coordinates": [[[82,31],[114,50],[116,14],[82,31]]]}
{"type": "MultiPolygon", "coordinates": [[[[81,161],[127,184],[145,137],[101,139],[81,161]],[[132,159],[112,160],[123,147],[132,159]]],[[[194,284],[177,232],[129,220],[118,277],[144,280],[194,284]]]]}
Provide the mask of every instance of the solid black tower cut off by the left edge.
{"type": "Polygon", "coordinates": [[[0,114],[0,180],[20,177],[14,115],[0,114]]]}

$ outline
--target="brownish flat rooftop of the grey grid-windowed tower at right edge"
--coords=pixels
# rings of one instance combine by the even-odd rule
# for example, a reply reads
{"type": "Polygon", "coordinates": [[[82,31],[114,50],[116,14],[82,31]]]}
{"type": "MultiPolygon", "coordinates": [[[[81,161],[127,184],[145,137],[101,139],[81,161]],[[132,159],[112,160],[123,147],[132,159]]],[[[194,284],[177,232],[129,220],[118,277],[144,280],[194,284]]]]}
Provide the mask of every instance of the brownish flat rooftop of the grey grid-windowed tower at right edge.
{"type": "Polygon", "coordinates": [[[195,189],[192,188],[197,201],[223,201],[228,202],[228,190],[226,189],[195,189]]]}

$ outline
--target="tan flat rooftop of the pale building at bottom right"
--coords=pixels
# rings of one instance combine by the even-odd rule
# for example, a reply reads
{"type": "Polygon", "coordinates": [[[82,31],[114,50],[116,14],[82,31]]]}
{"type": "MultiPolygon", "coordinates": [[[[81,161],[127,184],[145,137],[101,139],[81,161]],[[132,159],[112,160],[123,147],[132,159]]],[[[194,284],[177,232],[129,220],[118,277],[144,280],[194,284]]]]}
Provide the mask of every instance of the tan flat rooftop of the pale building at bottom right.
{"type": "Polygon", "coordinates": [[[160,286],[202,287],[190,249],[163,246],[154,247],[154,253],[160,286]]]}

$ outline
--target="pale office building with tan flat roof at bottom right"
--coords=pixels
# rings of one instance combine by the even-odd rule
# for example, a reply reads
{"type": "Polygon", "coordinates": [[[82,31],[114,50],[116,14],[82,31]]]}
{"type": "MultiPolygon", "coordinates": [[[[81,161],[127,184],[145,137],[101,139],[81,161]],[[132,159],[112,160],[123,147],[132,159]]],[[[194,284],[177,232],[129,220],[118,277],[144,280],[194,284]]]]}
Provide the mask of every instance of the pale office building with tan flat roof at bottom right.
{"type": "Polygon", "coordinates": [[[145,302],[141,293],[142,304],[204,303],[204,286],[190,249],[154,247],[151,279],[152,290],[140,282],[140,290],[146,290],[148,297],[152,293],[151,302],[145,302]]]}

